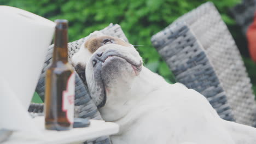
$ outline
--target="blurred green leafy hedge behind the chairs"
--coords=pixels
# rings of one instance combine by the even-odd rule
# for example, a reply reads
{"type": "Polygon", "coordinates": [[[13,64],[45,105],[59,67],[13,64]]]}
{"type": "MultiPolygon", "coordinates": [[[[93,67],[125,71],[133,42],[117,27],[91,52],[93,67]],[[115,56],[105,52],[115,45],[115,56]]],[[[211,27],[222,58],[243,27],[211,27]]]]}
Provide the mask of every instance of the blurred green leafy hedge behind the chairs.
{"type": "MultiPolygon", "coordinates": [[[[54,21],[69,21],[69,41],[85,37],[95,30],[100,30],[109,23],[118,23],[131,44],[137,46],[150,70],[162,75],[168,82],[175,82],[171,71],[161,59],[152,44],[150,37],[168,26],[179,16],[198,7],[207,1],[197,0],[0,0],[1,5],[18,7],[54,21]]],[[[249,76],[256,90],[256,65],[248,55],[246,39],[232,17],[229,8],[240,3],[239,0],[215,0],[219,13],[228,25],[245,61],[249,76]]],[[[37,101],[37,100],[36,100],[37,101]]]]}

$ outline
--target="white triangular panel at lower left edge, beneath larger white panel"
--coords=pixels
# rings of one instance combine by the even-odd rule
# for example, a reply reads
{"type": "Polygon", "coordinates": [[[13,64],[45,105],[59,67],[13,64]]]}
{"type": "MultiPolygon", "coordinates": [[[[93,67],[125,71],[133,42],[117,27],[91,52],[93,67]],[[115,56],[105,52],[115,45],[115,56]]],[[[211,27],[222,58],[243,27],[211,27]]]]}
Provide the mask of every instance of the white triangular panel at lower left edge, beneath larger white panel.
{"type": "Polygon", "coordinates": [[[25,107],[10,89],[8,81],[0,76],[0,129],[27,131],[41,135],[25,107]]]}

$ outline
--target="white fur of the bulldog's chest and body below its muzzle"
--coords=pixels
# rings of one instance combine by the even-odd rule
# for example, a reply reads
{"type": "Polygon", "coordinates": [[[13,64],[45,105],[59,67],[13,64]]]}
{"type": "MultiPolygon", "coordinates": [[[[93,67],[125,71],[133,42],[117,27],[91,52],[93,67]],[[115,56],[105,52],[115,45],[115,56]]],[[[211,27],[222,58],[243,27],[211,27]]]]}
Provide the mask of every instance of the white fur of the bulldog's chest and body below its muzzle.
{"type": "MultiPolygon", "coordinates": [[[[78,60],[72,60],[86,64],[92,55],[88,52],[84,47],[74,55],[78,60]]],[[[224,121],[203,95],[181,83],[170,85],[146,67],[126,84],[129,89],[113,85],[100,109],[104,120],[120,125],[119,133],[111,136],[114,144],[256,143],[255,128],[224,121]]]]}

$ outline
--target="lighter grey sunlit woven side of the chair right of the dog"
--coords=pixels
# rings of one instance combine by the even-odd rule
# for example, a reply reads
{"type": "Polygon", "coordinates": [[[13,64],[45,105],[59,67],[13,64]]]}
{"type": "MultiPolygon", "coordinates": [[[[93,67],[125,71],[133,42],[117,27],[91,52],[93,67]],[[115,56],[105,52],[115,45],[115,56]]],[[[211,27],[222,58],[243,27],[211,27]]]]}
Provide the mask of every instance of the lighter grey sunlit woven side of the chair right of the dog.
{"type": "MultiPolygon", "coordinates": [[[[201,49],[206,53],[217,74],[236,122],[255,127],[256,107],[252,85],[235,41],[217,9],[211,2],[202,4],[177,19],[160,33],[168,33],[169,29],[179,22],[187,23],[197,42],[202,45],[201,49]]],[[[152,38],[153,44],[156,35],[152,38]]],[[[205,84],[202,83],[202,85],[205,84]]]]}

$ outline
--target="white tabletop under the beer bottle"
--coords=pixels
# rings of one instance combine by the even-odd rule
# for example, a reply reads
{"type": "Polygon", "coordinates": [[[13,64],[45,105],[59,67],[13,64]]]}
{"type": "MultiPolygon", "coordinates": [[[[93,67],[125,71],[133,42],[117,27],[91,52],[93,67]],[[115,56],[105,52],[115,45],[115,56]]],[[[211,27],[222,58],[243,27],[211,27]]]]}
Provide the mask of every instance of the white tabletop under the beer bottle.
{"type": "Polygon", "coordinates": [[[99,136],[116,134],[119,125],[116,123],[90,120],[87,128],[74,128],[67,131],[55,131],[44,129],[44,117],[36,117],[34,121],[42,131],[42,137],[34,138],[24,132],[15,132],[3,144],[30,144],[30,143],[82,143],[99,136]]]}

